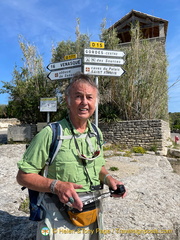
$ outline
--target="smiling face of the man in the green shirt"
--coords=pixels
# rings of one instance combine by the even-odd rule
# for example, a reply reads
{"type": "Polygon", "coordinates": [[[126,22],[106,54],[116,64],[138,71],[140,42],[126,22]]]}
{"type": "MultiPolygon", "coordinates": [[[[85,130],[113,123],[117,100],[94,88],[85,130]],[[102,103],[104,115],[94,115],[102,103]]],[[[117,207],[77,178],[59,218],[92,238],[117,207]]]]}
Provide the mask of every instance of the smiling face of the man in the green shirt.
{"type": "Polygon", "coordinates": [[[97,90],[88,83],[73,84],[67,99],[70,116],[76,119],[89,119],[95,111],[97,90]]]}

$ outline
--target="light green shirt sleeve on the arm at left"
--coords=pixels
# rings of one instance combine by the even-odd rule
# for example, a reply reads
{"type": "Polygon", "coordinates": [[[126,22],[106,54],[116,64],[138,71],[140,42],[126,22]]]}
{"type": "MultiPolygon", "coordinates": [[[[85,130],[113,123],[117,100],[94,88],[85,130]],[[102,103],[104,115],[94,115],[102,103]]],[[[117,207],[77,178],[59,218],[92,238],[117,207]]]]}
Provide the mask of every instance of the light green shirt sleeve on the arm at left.
{"type": "Polygon", "coordinates": [[[18,168],[25,173],[39,173],[48,159],[51,142],[52,130],[47,126],[33,138],[23,158],[17,163],[18,168]]]}

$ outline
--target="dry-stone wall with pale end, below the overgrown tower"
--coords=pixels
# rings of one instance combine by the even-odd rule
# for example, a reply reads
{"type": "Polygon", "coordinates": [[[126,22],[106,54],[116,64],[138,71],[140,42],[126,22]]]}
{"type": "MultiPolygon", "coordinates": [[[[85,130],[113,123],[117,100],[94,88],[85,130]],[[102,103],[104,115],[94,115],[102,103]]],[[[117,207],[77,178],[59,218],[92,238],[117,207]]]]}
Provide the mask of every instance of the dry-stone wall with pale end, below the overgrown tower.
{"type": "Polygon", "coordinates": [[[165,151],[169,145],[169,123],[163,120],[133,120],[113,124],[99,123],[106,142],[115,142],[128,147],[142,146],[165,151]]]}

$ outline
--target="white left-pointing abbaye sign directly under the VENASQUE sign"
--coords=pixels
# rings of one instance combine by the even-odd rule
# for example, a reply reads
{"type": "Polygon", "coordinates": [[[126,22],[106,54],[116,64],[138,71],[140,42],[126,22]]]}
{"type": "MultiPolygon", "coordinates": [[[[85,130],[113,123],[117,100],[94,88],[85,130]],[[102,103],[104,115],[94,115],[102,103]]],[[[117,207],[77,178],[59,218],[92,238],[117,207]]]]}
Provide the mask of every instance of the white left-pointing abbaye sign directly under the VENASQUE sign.
{"type": "Polygon", "coordinates": [[[63,70],[52,71],[48,74],[50,80],[60,80],[66,78],[72,78],[77,72],[81,72],[81,67],[68,68],[63,70]]]}

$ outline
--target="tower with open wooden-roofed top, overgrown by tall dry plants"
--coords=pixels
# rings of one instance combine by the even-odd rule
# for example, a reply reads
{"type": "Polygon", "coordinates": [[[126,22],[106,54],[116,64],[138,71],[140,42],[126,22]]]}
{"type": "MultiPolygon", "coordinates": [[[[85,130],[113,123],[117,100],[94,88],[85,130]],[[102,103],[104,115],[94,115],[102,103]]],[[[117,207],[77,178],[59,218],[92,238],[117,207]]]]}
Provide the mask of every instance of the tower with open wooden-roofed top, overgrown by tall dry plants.
{"type": "Polygon", "coordinates": [[[109,32],[116,30],[120,50],[125,52],[122,68],[126,74],[118,80],[120,83],[113,80],[113,85],[105,89],[108,101],[117,103],[122,120],[168,121],[167,29],[167,20],[135,10],[108,28],[109,32]]]}

